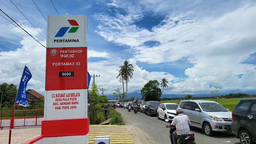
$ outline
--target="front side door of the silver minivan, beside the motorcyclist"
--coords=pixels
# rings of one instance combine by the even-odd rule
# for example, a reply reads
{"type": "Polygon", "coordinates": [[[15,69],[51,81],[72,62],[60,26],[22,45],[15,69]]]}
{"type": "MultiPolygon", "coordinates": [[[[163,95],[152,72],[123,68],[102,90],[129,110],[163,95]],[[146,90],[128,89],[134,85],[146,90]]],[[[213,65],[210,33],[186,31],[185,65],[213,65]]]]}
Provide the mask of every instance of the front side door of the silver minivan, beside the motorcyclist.
{"type": "Polygon", "coordinates": [[[192,108],[190,111],[189,119],[190,119],[191,124],[201,126],[201,112],[196,111],[195,110],[196,108],[198,108],[200,110],[198,104],[195,102],[192,102],[192,108]]]}

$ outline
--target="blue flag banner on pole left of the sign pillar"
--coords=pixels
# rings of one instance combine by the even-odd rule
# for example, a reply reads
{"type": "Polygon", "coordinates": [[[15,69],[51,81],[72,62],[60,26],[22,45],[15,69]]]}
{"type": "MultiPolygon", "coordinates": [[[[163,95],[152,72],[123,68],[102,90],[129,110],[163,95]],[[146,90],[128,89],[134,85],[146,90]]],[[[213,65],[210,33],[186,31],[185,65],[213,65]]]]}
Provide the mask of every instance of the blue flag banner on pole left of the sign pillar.
{"type": "Polygon", "coordinates": [[[29,106],[28,93],[26,91],[26,88],[27,88],[28,81],[31,79],[31,77],[32,77],[32,74],[30,73],[27,66],[25,66],[21,76],[20,85],[19,85],[17,96],[16,96],[16,100],[15,100],[15,106],[23,106],[23,107],[29,106]]]}

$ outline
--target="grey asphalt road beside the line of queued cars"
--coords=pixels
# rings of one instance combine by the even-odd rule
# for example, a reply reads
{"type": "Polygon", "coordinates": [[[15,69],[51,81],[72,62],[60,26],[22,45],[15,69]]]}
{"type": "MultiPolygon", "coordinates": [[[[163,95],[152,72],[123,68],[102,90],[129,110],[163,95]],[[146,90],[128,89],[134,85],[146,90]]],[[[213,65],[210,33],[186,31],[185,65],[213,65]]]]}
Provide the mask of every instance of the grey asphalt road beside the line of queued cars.
{"type": "MultiPolygon", "coordinates": [[[[163,119],[157,119],[157,116],[150,117],[144,113],[133,111],[128,112],[126,108],[116,108],[122,114],[124,123],[128,126],[135,144],[165,144],[171,143],[169,137],[170,128],[166,128],[169,124],[163,119]]],[[[195,127],[190,126],[190,133],[195,134],[196,144],[241,144],[236,136],[230,133],[215,133],[209,137],[204,132],[195,127]]]]}

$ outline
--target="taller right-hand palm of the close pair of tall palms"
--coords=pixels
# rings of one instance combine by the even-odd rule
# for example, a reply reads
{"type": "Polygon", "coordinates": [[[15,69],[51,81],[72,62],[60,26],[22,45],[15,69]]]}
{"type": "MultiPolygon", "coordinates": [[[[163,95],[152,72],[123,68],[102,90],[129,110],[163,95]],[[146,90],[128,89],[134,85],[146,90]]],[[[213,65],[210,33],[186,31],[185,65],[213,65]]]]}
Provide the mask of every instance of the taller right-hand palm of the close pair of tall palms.
{"type": "Polygon", "coordinates": [[[129,78],[132,78],[133,76],[133,65],[129,64],[129,61],[125,60],[124,61],[124,80],[126,82],[126,99],[127,100],[127,83],[129,82],[129,78]]]}

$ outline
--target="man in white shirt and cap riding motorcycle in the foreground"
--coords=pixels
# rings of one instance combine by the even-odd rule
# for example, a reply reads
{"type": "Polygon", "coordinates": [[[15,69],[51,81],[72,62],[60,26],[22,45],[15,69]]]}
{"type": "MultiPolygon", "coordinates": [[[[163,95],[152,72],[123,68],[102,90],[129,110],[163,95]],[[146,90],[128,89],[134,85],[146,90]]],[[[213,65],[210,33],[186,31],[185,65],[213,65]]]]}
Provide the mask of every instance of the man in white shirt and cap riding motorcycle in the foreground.
{"type": "MultiPolygon", "coordinates": [[[[187,115],[183,115],[182,113],[183,113],[182,109],[177,108],[176,109],[177,116],[173,118],[172,124],[166,125],[166,127],[170,127],[170,128],[173,127],[174,125],[176,126],[176,131],[172,133],[173,144],[177,144],[177,138],[180,135],[190,134],[189,132],[190,120],[187,115]]],[[[171,139],[171,134],[170,134],[170,139],[171,139]]]]}

